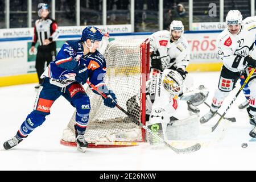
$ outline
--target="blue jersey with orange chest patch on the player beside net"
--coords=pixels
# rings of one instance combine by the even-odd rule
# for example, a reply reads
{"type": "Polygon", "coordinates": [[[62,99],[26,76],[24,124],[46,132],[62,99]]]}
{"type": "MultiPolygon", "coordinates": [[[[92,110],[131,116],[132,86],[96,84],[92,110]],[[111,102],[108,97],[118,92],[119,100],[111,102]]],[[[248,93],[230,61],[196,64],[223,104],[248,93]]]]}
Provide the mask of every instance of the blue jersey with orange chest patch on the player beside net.
{"type": "Polygon", "coordinates": [[[48,65],[42,77],[49,77],[53,85],[65,87],[75,81],[76,74],[72,69],[68,69],[69,65],[72,68],[75,63],[75,67],[79,67],[80,65],[86,66],[86,80],[89,78],[89,81],[96,87],[104,86],[104,77],[106,74],[104,56],[98,51],[88,53],[87,55],[83,55],[83,52],[84,48],[82,47],[81,40],[69,40],[65,42],[57,54],[56,60],[48,65]]]}

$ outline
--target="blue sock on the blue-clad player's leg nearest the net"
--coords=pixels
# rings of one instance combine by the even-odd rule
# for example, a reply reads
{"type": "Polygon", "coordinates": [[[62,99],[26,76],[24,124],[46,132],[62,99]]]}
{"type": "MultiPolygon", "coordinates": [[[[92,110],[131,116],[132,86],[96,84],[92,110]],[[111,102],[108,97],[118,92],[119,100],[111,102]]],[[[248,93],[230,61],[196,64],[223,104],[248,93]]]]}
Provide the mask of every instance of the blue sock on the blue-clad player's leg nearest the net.
{"type": "Polygon", "coordinates": [[[77,94],[72,99],[73,106],[76,107],[76,129],[82,134],[88,125],[90,113],[90,99],[86,94],[77,94]]]}

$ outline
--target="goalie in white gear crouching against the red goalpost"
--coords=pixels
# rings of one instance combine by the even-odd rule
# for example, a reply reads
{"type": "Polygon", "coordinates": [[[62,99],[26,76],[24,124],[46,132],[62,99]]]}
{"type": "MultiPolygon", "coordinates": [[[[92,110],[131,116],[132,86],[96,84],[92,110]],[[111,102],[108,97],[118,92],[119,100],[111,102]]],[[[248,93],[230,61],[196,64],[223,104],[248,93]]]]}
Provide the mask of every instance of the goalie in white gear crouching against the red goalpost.
{"type": "MultiPolygon", "coordinates": [[[[183,92],[184,80],[179,72],[164,69],[146,84],[146,121],[152,131],[163,130],[164,137],[171,139],[189,139],[199,133],[199,118],[192,115],[180,120],[175,117],[179,100],[190,101],[192,105],[202,104],[208,96],[208,90],[201,85],[198,89],[183,92]],[[183,95],[179,97],[180,93],[183,95]],[[168,129],[169,127],[169,129],[168,129]],[[167,131],[167,132],[166,132],[167,131]]],[[[127,111],[132,114],[139,109],[138,96],[126,102],[127,111]],[[134,105],[137,104],[137,105],[134,105]]],[[[139,118],[137,118],[139,119],[139,118]]],[[[154,143],[154,138],[150,139],[154,143]]]]}

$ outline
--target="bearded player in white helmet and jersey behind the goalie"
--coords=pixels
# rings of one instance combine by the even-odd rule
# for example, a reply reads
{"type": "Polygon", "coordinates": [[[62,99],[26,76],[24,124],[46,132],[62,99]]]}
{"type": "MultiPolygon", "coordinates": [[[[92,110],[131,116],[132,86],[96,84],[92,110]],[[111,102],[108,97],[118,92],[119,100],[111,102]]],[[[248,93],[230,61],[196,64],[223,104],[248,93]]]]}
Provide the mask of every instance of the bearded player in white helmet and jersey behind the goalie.
{"type": "MultiPolygon", "coordinates": [[[[181,21],[174,20],[170,31],[162,30],[150,36],[151,77],[164,69],[173,69],[185,79],[185,68],[189,63],[189,45],[183,36],[184,26],[181,21]]],[[[200,110],[190,102],[188,110],[199,114],[200,110]]]]}

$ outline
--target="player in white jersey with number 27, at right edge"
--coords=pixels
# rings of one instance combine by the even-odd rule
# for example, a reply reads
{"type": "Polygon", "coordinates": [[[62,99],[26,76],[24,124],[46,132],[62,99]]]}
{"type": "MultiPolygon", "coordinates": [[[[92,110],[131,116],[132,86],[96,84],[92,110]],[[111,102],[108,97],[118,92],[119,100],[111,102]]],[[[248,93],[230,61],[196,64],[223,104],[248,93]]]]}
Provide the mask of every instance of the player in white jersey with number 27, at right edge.
{"type": "MultiPolygon", "coordinates": [[[[218,55],[223,66],[221,69],[218,88],[214,93],[210,111],[201,119],[201,123],[208,122],[216,115],[224,98],[236,85],[241,75],[245,78],[249,75],[251,68],[256,67],[255,60],[255,35],[256,17],[249,17],[242,21],[242,14],[238,10],[230,10],[226,16],[227,28],[218,36],[218,55]]],[[[250,123],[256,123],[256,75],[251,76],[248,85],[250,89],[250,101],[247,108],[250,123]]],[[[256,137],[256,127],[250,132],[251,137],[256,137]]]]}

